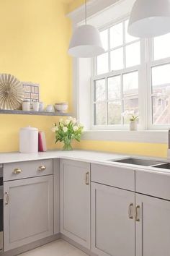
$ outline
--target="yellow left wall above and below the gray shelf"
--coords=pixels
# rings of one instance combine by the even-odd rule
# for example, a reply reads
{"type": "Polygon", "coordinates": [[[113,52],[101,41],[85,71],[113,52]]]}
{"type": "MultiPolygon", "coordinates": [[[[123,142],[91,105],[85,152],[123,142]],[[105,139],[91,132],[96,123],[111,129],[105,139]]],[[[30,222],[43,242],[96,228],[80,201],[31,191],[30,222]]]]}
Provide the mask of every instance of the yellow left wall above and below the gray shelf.
{"type": "MultiPolygon", "coordinates": [[[[0,0],[0,72],[40,83],[41,101],[68,101],[71,111],[71,22],[66,11],[59,0],[0,0]]],[[[55,148],[50,127],[56,120],[1,114],[0,151],[18,150],[19,128],[29,124],[44,130],[48,148],[55,148]]]]}

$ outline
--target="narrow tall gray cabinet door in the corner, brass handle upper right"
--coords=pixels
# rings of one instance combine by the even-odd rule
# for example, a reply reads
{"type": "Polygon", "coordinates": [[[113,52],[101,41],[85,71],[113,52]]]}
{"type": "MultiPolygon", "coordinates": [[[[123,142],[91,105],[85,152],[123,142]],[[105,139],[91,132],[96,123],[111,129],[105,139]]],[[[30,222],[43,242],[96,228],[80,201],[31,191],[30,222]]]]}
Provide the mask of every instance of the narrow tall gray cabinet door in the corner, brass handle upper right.
{"type": "Polygon", "coordinates": [[[90,249],[90,163],[61,160],[61,234],[90,249]]]}

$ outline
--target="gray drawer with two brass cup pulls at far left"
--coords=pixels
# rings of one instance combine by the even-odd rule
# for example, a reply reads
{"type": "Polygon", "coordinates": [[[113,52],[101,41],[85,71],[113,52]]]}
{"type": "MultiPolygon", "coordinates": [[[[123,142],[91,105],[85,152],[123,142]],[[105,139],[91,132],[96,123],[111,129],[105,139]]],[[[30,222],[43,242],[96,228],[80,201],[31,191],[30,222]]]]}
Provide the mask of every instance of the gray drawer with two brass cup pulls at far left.
{"type": "Polygon", "coordinates": [[[4,164],[4,181],[53,174],[53,159],[4,164]]]}

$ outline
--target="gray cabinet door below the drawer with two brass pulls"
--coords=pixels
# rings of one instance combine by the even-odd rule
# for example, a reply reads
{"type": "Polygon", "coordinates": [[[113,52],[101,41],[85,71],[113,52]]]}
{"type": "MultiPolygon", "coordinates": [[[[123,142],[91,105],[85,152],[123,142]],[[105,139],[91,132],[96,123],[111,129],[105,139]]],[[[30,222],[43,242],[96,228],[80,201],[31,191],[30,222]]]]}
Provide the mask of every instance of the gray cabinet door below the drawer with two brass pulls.
{"type": "Polygon", "coordinates": [[[4,251],[53,235],[53,175],[4,182],[4,251]]]}

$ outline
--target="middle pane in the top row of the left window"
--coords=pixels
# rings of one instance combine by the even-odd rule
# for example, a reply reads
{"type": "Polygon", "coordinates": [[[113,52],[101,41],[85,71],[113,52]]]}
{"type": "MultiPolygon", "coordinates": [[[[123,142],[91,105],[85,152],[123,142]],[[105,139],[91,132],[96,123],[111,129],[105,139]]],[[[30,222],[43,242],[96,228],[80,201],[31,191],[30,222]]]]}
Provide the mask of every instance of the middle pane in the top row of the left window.
{"type": "Polygon", "coordinates": [[[110,48],[122,46],[123,32],[122,23],[119,23],[113,27],[110,27],[110,48]]]}

